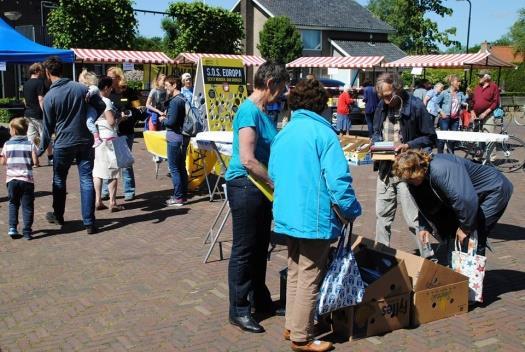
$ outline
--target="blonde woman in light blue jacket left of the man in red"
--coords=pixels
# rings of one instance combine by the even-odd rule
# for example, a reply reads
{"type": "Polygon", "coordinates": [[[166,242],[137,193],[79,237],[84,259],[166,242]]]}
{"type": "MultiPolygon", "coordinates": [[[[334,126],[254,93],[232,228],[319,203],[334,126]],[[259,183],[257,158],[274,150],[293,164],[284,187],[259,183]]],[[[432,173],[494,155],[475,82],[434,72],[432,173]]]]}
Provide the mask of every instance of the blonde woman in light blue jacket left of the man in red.
{"type": "MultiPolygon", "coordinates": [[[[441,131],[457,131],[461,117],[462,106],[467,101],[463,92],[459,91],[461,84],[458,76],[448,77],[449,88],[444,90],[436,98],[436,107],[439,114],[439,129],[441,131]]],[[[437,142],[438,153],[443,153],[445,147],[444,140],[437,142]]],[[[450,153],[454,151],[454,142],[447,141],[447,148],[450,153]]]]}

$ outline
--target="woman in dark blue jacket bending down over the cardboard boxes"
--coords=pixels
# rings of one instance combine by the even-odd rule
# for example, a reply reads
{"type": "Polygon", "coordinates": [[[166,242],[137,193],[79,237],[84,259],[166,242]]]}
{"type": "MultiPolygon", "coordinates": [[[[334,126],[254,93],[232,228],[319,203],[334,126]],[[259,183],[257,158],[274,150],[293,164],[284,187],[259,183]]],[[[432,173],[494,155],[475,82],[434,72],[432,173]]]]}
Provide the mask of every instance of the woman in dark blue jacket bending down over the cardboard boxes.
{"type": "Polygon", "coordinates": [[[473,231],[477,231],[479,241],[477,253],[485,255],[487,235],[512,195],[512,183],[505,176],[491,166],[452,154],[430,155],[413,150],[399,155],[394,174],[409,184],[423,215],[420,240],[428,243],[435,227],[447,243],[446,256],[438,258],[443,264],[450,264],[455,238],[463,244],[473,231]]]}

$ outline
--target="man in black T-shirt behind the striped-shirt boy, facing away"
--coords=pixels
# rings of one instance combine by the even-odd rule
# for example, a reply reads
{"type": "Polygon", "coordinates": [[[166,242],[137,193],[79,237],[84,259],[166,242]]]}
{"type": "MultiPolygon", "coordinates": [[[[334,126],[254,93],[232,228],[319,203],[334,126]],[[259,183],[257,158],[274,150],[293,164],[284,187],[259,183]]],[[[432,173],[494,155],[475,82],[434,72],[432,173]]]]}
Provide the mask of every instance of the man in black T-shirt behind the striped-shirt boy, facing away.
{"type": "MultiPolygon", "coordinates": [[[[29,120],[27,137],[35,145],[40,144],[42,135],[42,119],[44,108],[44,95],[46,87],[43,79],[43,70],[40,63],[29,66],[29,80],[24,84],[24,101],[26,105],[25,117],[29,120]]],[[[49,145],[47,148],[48,165],[53,164],[53,149],[49,145]]]]}

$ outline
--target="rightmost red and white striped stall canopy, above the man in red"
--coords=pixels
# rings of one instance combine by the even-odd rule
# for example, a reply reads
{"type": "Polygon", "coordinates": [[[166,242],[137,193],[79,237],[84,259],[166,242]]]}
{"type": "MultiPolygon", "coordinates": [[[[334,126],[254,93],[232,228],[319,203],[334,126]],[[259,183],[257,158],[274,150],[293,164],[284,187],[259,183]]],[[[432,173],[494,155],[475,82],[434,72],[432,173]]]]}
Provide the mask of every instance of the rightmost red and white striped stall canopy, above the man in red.
{"type": "Polygon", "coordinates": [[[514,67],[490,52],[476,54],[441,54],[441,55],[410,55],[389,62],[384,67],[514,67]]]}

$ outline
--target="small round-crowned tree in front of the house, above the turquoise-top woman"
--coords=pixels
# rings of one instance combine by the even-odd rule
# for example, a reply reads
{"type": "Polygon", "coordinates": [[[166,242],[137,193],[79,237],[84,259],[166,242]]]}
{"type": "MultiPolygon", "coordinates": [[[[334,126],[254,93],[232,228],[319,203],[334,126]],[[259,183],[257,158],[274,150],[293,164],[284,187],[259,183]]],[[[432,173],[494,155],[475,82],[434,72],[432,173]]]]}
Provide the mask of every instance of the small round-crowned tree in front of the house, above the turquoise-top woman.
{"type": "Polygon", "coordinates": [[[287,63],[303,53],[301,34],[288,17],[269,18],[259,32],[257,49],[266,60],[287,63]]]}

